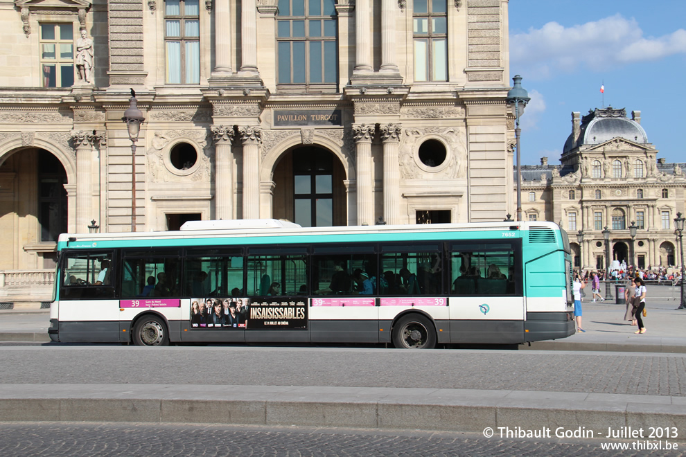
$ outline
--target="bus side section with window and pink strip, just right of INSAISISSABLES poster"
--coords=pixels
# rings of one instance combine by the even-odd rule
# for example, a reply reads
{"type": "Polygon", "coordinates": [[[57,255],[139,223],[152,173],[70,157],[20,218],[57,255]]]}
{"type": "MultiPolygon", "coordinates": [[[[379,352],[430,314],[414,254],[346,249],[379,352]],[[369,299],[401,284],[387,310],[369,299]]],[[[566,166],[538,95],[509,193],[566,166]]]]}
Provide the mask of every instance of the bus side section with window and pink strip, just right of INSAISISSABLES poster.
{"type": "Polygon", "coordinates": [[[378,261],[373,244],[315,246],[310,294],[313,342],[378,343],[378,261]]]}

